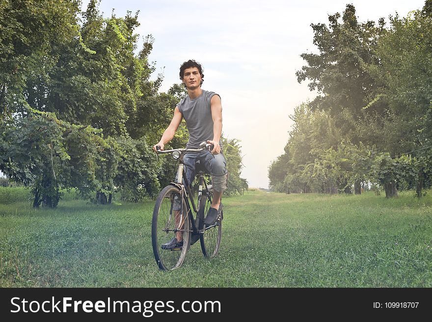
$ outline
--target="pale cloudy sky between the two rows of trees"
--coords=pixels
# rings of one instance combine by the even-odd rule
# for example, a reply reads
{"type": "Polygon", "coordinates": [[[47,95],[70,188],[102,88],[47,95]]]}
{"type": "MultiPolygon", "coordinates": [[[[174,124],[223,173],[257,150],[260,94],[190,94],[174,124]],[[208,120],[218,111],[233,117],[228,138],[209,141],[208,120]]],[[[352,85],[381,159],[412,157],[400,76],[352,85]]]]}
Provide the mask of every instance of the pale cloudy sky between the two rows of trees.
{"type": "Polygon", "coordinates": [[[317,95],[296,77],[305,64],[300,54],[317,51],[311,24],[327,23],[347,3],[359,22],[377,22],[396,12],[405,17],[424,0],[101,0],[99,9],[104,17],[139,10],[138,50],[151,34],[152,78],[163,74],[161,92],[181,82],[184,61],[202,64],[202,88],[222,100],[223,134],[240,140],[241,176],[249,187],[268,188],[268,167],[288,142],[289,116],[317,95]]]}

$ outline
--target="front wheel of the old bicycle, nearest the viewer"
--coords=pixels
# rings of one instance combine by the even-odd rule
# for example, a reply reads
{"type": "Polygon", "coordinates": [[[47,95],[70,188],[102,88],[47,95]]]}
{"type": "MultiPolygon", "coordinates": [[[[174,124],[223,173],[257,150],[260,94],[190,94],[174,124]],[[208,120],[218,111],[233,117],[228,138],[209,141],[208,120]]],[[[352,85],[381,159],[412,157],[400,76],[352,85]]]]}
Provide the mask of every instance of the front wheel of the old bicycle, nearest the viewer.
{"type": "Polygon", "coordinates": [[[189,244],[190,223],[186,202],[179,188],[166,186],[156,199],[152,220],[152,247],[159,269],[170,271],[182,265],[189,244]],[[176,232],[183,235],[183,246],[162,246],[176,238],[176,232]]]}

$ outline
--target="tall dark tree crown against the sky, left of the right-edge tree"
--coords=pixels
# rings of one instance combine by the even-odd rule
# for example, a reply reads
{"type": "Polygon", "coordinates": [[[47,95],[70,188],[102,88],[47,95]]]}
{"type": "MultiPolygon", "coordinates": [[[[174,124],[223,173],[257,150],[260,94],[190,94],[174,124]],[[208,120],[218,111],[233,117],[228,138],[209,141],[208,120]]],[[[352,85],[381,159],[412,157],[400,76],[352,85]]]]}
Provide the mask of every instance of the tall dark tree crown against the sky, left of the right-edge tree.
{"type": "Polygon", "coordinates": [[[296,74],[299,82],[309,79],[309,88],[321,94],[311,103],[313,109],[329,111],[332,116],[348,110],[357,120],[375,89],[369,65],[379,63],[376,48],[384,21],[380,19],[378,26],[372,21],[358,23],[352,4],[347,4],[342,22],[340,18],[336,13],[328,16],[328,26],[311,25],[320,53],[301,54],[308,65],[296,74]]]}

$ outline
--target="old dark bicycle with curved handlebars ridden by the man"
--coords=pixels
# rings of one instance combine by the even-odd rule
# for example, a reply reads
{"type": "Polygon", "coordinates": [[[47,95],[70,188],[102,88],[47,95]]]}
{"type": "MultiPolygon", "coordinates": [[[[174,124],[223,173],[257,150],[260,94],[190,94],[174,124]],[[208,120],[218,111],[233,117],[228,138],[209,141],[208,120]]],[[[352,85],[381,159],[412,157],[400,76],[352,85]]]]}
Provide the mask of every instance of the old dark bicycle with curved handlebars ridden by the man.
{"type": "Polygon", "coordinates": [[[219,251],[223,209],[220,209],[216,223],[208,227],[204,223],[213,198],[212,186],[207,185],[206,181],[210,173],[197,162],[195,175],[198,176],[198,199],[195,205],[183,163],[183,156],[186,152],[193,153],[212,149],[211,145],[205,142],[201,143],[200,147],[200,149],[163,151],[157,147],[158,154],[171,153],[173,158],[179,162],[176,178],[159,193],[153,210],[152,247],[156,263],[162,271],[180,267],[190,246],[198,239],[205,257],[215,257],[219,251]],[[193,217],[192,210],[196,218],[193,217]],[[172,249],[164,248],[164,245],[176,238],[178,233],[183,235],[183,245],[172,249]]]}

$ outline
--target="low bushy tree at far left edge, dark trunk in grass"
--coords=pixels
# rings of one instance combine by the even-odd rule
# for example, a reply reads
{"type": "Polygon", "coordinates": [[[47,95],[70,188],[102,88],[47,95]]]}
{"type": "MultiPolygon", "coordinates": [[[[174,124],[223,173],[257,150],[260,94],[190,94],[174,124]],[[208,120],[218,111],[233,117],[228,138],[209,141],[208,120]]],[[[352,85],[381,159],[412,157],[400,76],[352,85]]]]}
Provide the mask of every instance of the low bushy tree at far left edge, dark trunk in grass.
{"type": "Polygon", "coordinates": [[[58,124],[44,116],[8,124],[5,130],[1,171],[11,180],[31,187],[33,207],[42,202],[55,207],[60,199],[59,188],[68,179],[61,171],[69,158],[61,136],[58,124]]]}

